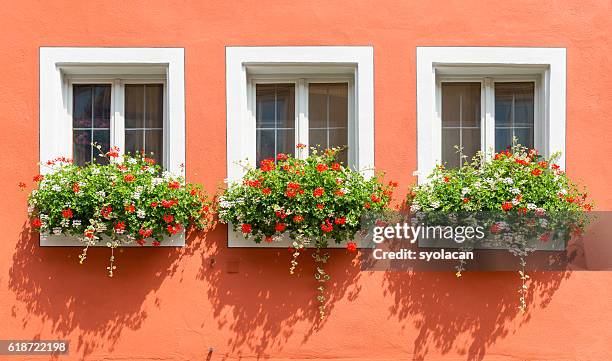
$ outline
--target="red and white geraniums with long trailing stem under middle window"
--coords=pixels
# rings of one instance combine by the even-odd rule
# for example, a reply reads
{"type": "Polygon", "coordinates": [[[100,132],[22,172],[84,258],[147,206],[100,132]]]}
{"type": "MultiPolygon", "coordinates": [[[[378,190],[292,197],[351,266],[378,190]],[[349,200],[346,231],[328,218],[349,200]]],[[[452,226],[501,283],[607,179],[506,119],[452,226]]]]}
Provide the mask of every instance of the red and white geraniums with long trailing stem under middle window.
{"type": "MultiPolygon", "coordinates": [[[[305,146],[298,145],[299,152],[305,146]]],[[[362,229],[362,217],[379,213],[389,204],[393,188],[382,176],[367,178],[337,161],[340,148],[323,152],[312,149],[305,159],[278,154],[261,161],[259,168],[246,168],[239,183],[231,184],[219,199],[219,218],[255,243],[292,239],[291,266],[294,273],[299,255],[311,244],[317,264],[315,279],[320,282],[320,315],[325,315],[324,283],[329,280],[323,265],[329,254],[328,242],[344,243],[356,251],[355,234],[362,229]]]]}

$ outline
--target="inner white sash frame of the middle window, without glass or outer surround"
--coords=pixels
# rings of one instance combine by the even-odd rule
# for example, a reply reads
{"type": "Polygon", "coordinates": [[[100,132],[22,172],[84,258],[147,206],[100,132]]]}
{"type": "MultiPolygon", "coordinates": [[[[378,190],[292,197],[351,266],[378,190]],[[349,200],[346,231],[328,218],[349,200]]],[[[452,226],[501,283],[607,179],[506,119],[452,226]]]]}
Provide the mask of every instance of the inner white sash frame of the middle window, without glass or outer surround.
{"type": "MultiPolygon", "coordinates": [[[[359,169],[357,164],[356,152],[356,132],[355,132],[355,81],[353,76],[343,76],[334,74],[296,74],[296,75],[267,75],[255,74],[248,75],[248,115],[251,119],[249,122],[256,123],[256,87],[257,84],[294,84],[295,85],[295,144],[304,144],[306,149],[303,152],[297,153],[300,158],[308,156],[309,147],[316,144],[310,144],[309,135],[309,117],[308,117],[308,86],[310,84],[329,84],[329,83],[347,83],[348,84],[348,166],[352,169],[359,169]]],[[[249,137],[251,139],[251,137],[249,137]]],[[[256,139],[256,138],[253,138],[256,139]]],[[[255,144],[255,147],[257,144],[255,144]]],[[[249,146],[251,147],[251,146],[249,146]]]]}

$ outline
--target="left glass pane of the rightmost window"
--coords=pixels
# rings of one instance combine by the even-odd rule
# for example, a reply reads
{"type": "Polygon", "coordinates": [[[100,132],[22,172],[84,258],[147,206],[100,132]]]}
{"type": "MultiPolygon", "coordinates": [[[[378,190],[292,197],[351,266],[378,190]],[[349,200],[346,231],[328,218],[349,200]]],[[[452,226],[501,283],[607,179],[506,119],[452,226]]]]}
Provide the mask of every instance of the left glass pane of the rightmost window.
{"type": "Polygon", "coordinates": [[[449,168],[481,150],[480,88],[479,82],[442,83],[442,163],[449,168]]]}

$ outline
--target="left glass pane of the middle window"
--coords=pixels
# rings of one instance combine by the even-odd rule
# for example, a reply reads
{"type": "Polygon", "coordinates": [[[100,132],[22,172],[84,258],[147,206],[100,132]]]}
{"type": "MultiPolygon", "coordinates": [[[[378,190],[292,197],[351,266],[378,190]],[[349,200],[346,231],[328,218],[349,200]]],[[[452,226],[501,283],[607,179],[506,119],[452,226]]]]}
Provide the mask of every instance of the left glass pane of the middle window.
{"type": "Polygon", "coordinates": [[[295,84],[257,84],[256,162],[295,153],[295,84]]]}

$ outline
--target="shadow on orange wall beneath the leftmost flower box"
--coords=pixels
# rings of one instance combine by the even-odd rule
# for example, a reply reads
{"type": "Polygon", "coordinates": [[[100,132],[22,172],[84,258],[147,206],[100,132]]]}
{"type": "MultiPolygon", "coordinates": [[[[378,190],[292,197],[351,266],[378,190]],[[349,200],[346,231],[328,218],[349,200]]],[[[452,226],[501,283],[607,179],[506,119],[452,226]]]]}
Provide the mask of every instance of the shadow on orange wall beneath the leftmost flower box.
{"type": "MultiPolygon", "coordinates": [[[[187,252],[165,247],[119,249],[115,272],[121,277],[111,279],[106,274],[108,248],[90,248],[81,265],[80,248],[41,248],[37,233],[28,227],[23,226],[9,270],[9,288],[22,302],[13,306],[12,316],[21,320],[24,329],[30,322],[42,321],[41,332],[70,336],[71,353],[83,358],[98,349],[112,351],[123,330],[140,328],[147,318],[143,303],[177,272],[187,252]],[[147,252],[146,257],[142,252],[147,252]],[[153,276],[143,277],[143,272],[153,276]]],[[[154,299],[156,305],[158,301],[154,299]]]]}

